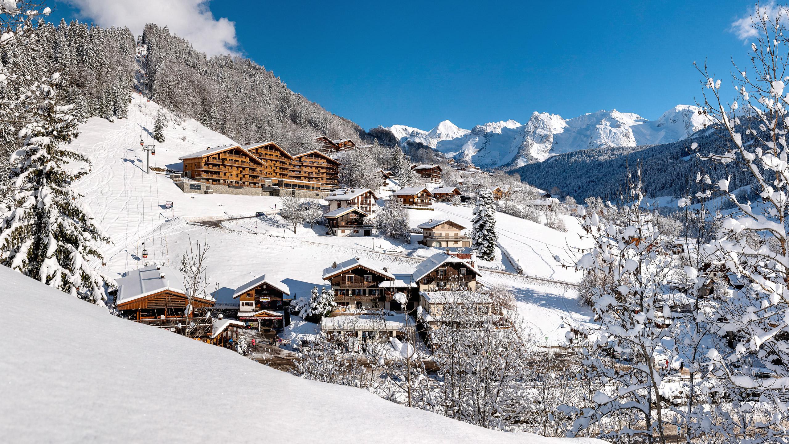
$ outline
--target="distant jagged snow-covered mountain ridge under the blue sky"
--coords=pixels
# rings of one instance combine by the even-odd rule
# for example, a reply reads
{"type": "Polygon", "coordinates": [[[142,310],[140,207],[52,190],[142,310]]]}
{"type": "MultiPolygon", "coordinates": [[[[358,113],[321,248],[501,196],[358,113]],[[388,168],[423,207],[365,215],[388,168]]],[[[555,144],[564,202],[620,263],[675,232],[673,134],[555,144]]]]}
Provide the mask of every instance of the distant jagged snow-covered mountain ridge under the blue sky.
{"type": "Polygon", "coordinates": [[[404,125],[393,125],[387,130],[402,144],[419,141],[454,160],[512,170],[580,149],[679,141],[709,125],[709,118],[699,111],[694,105],[680,104],[656,120],[616,109],[589,112],[572,119],[534,111],[525,124],[510,119],[464,130],[444,120],[427,131],[404,125]]]}

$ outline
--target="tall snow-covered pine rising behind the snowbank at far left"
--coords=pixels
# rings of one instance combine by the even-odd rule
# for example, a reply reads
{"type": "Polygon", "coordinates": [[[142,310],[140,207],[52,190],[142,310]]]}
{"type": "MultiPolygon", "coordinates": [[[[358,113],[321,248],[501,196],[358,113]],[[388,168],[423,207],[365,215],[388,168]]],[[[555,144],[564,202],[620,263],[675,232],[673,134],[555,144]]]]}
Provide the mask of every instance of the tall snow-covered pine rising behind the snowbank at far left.
{"type": "Polygon", "coordinates": [[[53,85],[60,75],[38,87],[48,99],[39,104],[36,120],[20,131],[24,145],[11,156],[11,178],[17,185],[15,208],[0,224],[0,262],[63,292],[103,305],[110,277],[95,269],[103,260],[99,243],[109,239],[80,207],[72,183],[87,168],[69,170],[69,162],[90,164],[87,157],[62,145],[77,133],[73,106],[57,102],[53,85]],[[94,262],[92,264],[91,262],[94,262]]]}

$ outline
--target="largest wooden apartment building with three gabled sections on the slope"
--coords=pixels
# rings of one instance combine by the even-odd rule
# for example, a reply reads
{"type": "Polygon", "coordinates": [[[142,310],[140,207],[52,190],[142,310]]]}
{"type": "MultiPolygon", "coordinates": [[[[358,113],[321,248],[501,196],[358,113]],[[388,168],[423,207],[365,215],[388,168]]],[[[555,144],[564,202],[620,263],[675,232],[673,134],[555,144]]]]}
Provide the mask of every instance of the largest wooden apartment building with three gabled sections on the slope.
{"type": "MultiPolygon", "coordinates": [[[[328,141],[328,139],[326,139],[328,141]]],[[[353,141],[324,142],[335,151],[353,148],[353,141]]],[[[273,141],[225,145],[178,158],[187,179],[230,187],[279,187],[285,190],[335,190],[340,163],[319,150],[291,156],[273,141]]]]}

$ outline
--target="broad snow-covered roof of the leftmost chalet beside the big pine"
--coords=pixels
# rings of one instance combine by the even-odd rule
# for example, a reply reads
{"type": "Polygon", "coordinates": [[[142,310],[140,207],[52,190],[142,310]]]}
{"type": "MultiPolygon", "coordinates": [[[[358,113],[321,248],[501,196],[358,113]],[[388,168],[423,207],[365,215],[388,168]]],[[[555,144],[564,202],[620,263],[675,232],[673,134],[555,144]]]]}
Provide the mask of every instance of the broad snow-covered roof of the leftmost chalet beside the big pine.
{"type": "Polygon", "coordinates": [[[181,272],[163,265],[149,265],[141,269],[133,269],[115,282],[118,284],[118,294],[115,295],[116,305],[165,290],[186,295],[183,289],[184,277],[181,272]]]}

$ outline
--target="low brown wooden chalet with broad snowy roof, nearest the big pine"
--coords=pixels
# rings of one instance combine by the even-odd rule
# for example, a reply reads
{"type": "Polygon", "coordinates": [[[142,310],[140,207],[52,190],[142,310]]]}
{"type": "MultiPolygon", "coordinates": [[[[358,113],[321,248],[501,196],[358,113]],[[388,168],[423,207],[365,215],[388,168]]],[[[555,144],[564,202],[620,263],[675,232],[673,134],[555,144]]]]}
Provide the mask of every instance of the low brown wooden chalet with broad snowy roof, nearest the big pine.
{"type": "MultiPolygon", "coordinates": [[[[163,265],[129,271],[117,280],[115,307],[133,321],[173,328],[185,322],[189,304],[183,281],[181,273],[163,265]]],[[[192,315],[198,318],[214,307],[214,299],[210,295],[195,298],[192,306],[192,315]]]]}

